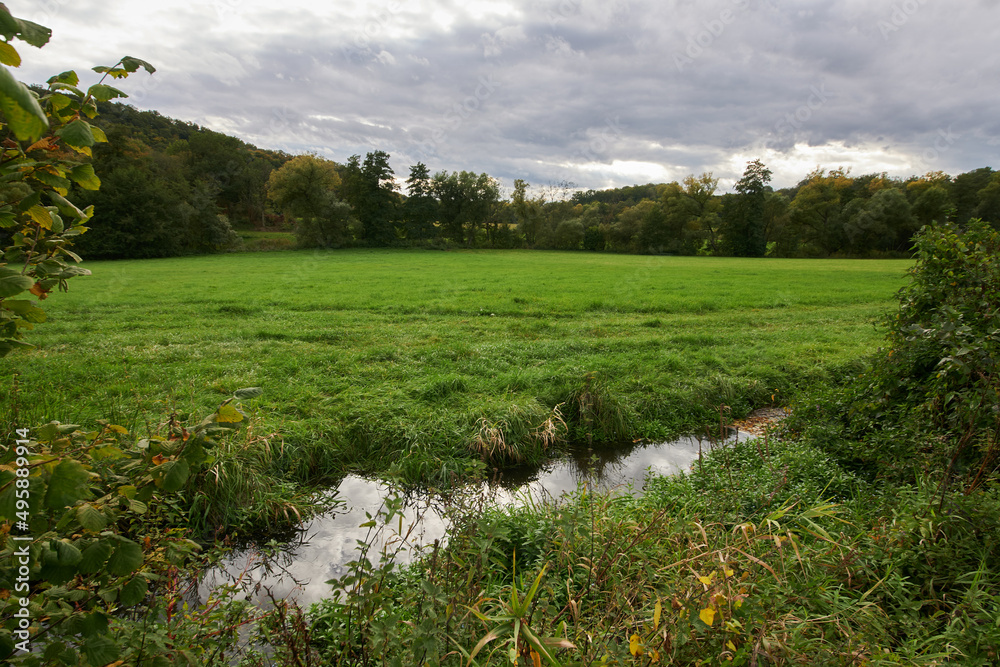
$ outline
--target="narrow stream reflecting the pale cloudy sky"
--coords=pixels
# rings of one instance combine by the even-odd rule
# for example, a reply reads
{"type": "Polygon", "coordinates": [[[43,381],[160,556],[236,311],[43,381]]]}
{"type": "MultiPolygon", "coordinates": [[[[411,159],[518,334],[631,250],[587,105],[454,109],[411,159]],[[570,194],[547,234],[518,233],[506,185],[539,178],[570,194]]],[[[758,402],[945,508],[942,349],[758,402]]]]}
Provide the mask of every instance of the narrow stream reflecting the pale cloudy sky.
{"type": "MultiPolygon", "coordinates": [[[[742,432],[734,439],[750,437],[742,432]]],[[[688,437],[659,444],[635,444],[614,451],[581,448],[571,455],[530,471],[507,470],[497,480],[469,485],[463,494],[494,506],[511,506],[558,500],[581,484],[592,489],[641,494],[648,475],[672,475],[688,469],[699,452],[712,446],[710,440],[688,437]]],[[[333,490],[331,490],[332,493],[333,490]]],[[[277,553],[248,547],[231,553],[218,566],[207,570],[198,586],[204,602],[218,586],[239,581],[255,602],[292,599],[302,607],[329,597],[326,581],[347,572],[347,564],[359,557],[358,541],[372,544],[373,561],[381,550],[395,551],[394,560],[406,564],[423,545],[444,540],[448,532],[442,515],[445,500],[429,492],[404,494],[384,482],[349,475],[336,488],[337,506],[303,526],[296,540],[282,544],[277,553]],[[375,517],[387,497],[402,500],[401,518],[382,530],[362,527],[375,517]],[[369,516],[370,515],[370,516],[369,516]],[[268,593],[269,591],[269,593],[268,593]]]]}

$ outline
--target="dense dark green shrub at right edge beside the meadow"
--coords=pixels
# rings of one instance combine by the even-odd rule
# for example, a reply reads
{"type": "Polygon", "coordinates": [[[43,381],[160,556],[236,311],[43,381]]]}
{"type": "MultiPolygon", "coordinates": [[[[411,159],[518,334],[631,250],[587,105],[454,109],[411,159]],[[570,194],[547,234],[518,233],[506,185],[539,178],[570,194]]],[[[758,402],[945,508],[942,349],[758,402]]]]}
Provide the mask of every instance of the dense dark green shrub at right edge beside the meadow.
{"type": "Polygon", "coordinates": [[[930,225],[914,250],[886,347],[793,423],[825,429],[821,444],[856,465],[901,470],[925,454],[976,485],[996,465],[1000,433],[1000,234],[979,220],[930,225]]]}

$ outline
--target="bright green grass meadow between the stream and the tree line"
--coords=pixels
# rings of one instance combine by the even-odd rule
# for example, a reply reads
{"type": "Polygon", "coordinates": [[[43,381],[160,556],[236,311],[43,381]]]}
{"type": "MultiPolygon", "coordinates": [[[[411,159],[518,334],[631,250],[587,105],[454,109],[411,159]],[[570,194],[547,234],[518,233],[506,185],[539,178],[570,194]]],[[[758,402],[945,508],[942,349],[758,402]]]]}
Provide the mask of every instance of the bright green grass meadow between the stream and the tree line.
{"type": "Polygon", "coordinates": [[[537,457],[559,415],[571,438],[664,438],[721,404],[787,400],[878,344],[909,262],[283,251],[85,266],[45,303],[38,349],[0,361],[8,415],[15,371],[22,422],[136,430],[261,386],[247,407],[311,452],[301,472],[419,479],[475,443],[537,457]]]}

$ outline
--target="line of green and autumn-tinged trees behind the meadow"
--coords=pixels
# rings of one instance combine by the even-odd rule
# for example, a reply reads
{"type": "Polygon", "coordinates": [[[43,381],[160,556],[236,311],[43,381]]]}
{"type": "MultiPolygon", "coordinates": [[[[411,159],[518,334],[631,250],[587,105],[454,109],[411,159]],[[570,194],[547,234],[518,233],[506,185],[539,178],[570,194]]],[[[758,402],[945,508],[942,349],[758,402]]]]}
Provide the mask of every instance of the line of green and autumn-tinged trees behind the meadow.
{"type": "Polygon", "coordinates": [[[671,183],[512,192],[485,173],[432,173],[404,183],[390,155],[345,163],[257,148],[155,111],[108,103],[111,141],[95,150],[103,183],[82,192],[96,224],[90,257],[157,257],[234,249],[236,229],[294,230],[300,247],[540,248],[646,254],[903,257],[932,221],[1000,225],[1000,172],[930,172],[907,179],[817,168],[774,189],[761,161],[735,191],[712,173],[671,183]]]}

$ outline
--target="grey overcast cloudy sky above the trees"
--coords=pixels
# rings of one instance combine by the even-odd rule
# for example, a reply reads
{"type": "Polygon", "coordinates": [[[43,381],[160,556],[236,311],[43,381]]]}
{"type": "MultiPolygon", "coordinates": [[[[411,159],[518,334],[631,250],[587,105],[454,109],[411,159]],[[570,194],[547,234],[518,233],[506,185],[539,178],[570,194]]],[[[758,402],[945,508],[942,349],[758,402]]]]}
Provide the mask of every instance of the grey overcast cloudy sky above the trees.
{"type": "Polygon", "coordinates": [[[6,4],[53,30],[20,47],[26,82],[136,56],[157,68],[120,86],[138,108],[290,153],[384,150],[404,179],[1000,168],[1000,0],[6,4]]]}

